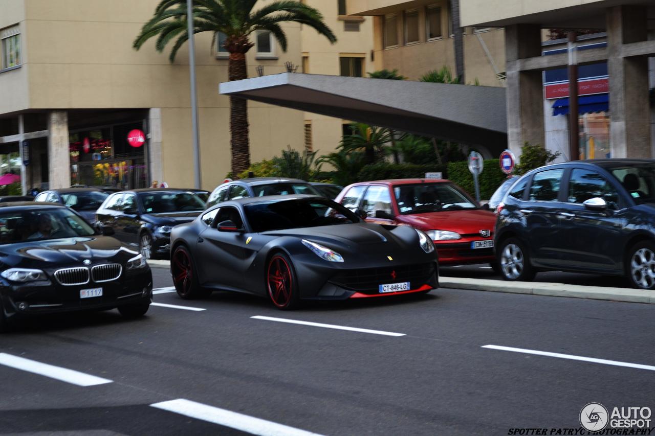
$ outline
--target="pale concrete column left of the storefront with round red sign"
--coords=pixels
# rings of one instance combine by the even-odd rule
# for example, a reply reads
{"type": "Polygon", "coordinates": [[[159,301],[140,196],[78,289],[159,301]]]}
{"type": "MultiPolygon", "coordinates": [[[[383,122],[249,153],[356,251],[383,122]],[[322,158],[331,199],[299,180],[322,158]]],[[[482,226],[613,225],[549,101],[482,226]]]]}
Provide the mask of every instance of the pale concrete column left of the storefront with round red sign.
{"type": "Polygon", "coordinates": [[[68,113],[51,111],[48,114],[48,186],[50,189],[71,186],[68,113]]]}

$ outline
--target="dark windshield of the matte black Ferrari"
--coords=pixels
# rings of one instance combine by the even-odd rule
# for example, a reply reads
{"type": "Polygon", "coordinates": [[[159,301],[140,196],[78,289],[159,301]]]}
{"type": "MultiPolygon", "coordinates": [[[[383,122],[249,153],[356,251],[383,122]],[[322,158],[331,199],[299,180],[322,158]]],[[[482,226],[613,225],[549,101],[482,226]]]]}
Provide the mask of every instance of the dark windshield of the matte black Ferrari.
{"type": "Polygon", "coordinates": [[[358,223],[351,211],[326,198],[294,198],[244,206],[253,232],[358,223]]]}

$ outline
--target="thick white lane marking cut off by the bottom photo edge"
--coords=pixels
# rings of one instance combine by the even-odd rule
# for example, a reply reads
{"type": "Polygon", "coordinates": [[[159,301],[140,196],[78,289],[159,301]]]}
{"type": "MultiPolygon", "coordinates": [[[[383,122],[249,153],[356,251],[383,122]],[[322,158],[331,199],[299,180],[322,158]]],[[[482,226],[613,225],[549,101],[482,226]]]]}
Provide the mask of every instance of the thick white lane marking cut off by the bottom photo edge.
{"type": "Polygon", "coordinates": [[[318,433],[311,433],[294,427],[284,426],[276,422],[254,418],[253,416],[231,412],[230,410],[219,409],[195,401],[179,398],[162,403],[151,404],[150,407],[168,410],[168,412],[179,413],[190,418],[203,420],[218,424],[219,426],[231,427],[245,431],[252,435],[260,436],[320,436],[318,433]]]}

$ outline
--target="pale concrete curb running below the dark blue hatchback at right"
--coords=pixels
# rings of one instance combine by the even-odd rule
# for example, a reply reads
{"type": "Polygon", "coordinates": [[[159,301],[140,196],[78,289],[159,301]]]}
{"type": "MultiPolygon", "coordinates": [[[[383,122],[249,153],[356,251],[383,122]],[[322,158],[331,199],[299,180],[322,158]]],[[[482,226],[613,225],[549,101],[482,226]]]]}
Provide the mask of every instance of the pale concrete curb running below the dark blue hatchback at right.
{"type": "Polygon", "coordinates": [[[622,287],[591,287],[565,285],[563,283],[501,282],[499,280],[459,277],[440,277],[439,287],[655,304],[655,291],[640,291],[638,289],[622,287]]]}

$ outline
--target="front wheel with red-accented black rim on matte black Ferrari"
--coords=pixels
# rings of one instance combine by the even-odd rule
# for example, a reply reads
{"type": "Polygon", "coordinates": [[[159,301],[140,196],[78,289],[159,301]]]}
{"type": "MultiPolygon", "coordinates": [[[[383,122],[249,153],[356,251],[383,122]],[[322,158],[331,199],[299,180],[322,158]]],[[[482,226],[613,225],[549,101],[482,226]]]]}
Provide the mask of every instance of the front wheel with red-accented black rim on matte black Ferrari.
{"type": "Polygon", "coordinates": [[[297,308],[300,294],[291,259],[284,253],[276,253],[266,271],[266,287],[272,303],[280,310],[297,308]]]}

